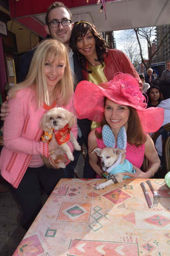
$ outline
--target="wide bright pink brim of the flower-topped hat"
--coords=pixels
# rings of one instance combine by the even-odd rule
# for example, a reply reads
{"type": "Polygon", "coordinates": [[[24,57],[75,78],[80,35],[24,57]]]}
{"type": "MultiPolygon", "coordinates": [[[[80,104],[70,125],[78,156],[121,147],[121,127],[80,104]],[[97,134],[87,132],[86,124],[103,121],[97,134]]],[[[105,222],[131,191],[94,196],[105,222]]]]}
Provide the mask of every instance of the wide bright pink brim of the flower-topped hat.
{"type": "Polygon", "coordinates": [[[94,83],[81,81],[74,95],[74,107],[79,119],[88,118],[89,120],[101,122],[104,117],[104,97],[114,101],[117,104],[132,106],[138,112],[143,131],[155,132],[163,124],[163,108],[141,108],[133,106],[119,95],[113,94],[112,91],[104,89],[94,83]]]}

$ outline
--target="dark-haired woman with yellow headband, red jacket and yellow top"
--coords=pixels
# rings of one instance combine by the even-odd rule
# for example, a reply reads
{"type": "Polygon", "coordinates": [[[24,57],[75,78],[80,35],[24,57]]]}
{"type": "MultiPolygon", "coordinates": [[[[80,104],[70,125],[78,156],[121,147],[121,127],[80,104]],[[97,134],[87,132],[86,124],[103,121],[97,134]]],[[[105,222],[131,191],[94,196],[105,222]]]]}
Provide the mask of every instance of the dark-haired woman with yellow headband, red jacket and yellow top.
{"type": "Polygon", "coordinates": [[[117,72],[139,75],[128,57],[117,49],[108,49],[96,27],[82,20],[74,23],[70,44],[82,65],[83,79],[100,84],[113,79],[117,72]]]}

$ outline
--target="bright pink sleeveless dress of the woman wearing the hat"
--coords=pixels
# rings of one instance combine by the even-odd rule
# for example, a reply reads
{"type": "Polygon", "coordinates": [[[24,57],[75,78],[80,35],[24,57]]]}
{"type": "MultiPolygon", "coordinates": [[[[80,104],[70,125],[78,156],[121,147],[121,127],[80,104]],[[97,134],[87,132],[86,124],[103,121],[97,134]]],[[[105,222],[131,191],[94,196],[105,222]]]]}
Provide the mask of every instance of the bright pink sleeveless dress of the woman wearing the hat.
{"type": "MultiPolygon", "coordinates": [[[[96,129],[96,131],[100,133],[102,131],[102,128],[99,127],[96,129]]],[[[98,138],[96,139],[97,139],[98,148],[106,147],[106,145],[103,142],[103,139],[98,139],[98,138]]],[[[144,153],[145,153],[145,143],[143,143],[139,147],[136,147],[135,145],[131,145],[127,142],[125,159],[128,159],[133,165],[135,165],[138,168],[142,166],[144,153]]],[[[96,178],[99,179],[101,177],[99,175],[96,175],[96,178]]]]}

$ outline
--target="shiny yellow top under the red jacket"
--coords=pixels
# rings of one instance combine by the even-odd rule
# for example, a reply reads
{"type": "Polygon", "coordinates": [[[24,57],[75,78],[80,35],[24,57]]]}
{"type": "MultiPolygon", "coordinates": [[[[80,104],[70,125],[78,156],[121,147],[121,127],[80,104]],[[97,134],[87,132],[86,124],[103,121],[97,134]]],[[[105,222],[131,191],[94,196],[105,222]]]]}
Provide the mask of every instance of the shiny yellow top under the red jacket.
{"type": "MultiPolygon", "coordinates": [[[[98,65],[96,67],[92,67],[88,64],[88,70],[92,71],[92,73],[88,74],[88,81],[92,82],[94,84],[100,84],[100,83],[106,83],[107,78],[105,77],[105,74],[103,72],[103,69],[105,68],[105,63],[103,61],[103,67],[102,65],[98,65]]],[[[95,121],[91,121],[91,130],[95,129],[97,127],[100,127],[100,123],[99,122],[95,122],[95,121]]]]}

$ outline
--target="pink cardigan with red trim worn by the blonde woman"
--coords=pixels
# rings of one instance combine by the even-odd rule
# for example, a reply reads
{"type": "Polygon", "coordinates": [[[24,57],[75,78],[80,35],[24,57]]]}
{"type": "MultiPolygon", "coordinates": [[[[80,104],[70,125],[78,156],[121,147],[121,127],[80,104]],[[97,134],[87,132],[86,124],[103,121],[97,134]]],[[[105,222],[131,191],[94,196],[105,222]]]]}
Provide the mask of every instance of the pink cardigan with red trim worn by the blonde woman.
{"type": "MultiPolygon", "coordinates": [[[[56,107],[61,106],[74,113],[73,100],[74,95],[68,105],[57,104],[56,107]]],[[[31,88],[19,90],[9,104],[11,111],[4,122],[0,170],[4,179],[17,188],[33,155],[49,157],[48,143],[39,141],[43,133],[39,122],[47,110],[43,107],[37,109],[35,93],[31,88]]],[[[72,127],[72,132],[77,138],[77,124],[72,127]]],[[[72,143],[68,144],[73,151],[72,143]]]]}

